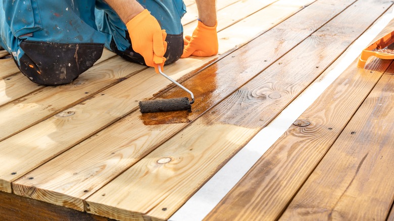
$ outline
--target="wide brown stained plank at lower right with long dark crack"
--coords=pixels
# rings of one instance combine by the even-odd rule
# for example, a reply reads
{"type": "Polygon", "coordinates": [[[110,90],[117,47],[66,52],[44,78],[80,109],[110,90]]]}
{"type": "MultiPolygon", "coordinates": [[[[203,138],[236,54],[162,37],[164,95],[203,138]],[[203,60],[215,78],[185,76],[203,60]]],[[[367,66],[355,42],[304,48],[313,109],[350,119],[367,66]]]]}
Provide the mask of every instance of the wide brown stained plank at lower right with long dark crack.
{"type": "Polygon", "coordinates": [[[387,218],[394,200],[392,68],[391,74],[382,76],[280,219],[387,218]]]}

